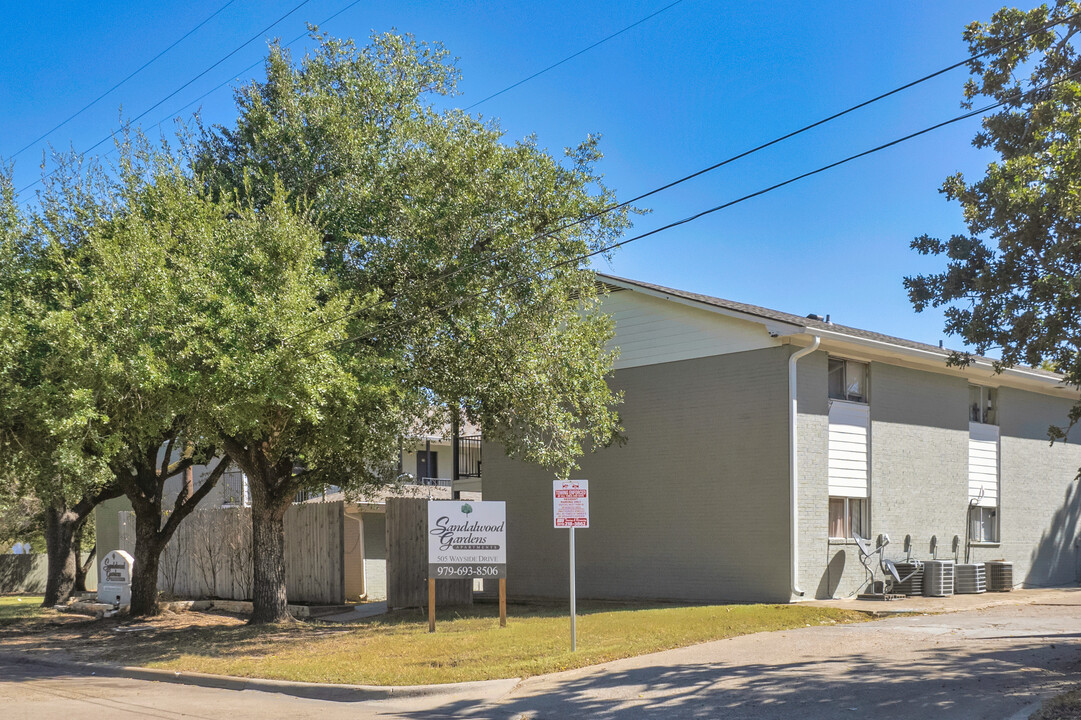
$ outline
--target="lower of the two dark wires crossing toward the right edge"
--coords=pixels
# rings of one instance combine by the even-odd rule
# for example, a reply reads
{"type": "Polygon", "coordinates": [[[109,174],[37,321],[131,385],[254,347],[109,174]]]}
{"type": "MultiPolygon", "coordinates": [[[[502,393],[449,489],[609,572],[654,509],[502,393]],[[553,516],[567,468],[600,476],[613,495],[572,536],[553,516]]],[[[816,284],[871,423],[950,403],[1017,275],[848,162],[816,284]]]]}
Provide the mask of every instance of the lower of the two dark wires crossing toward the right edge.
{"type": "MultiPolygon", "coordinates": [[[[1030,90],[1028,92],[1031,93],[1031,92],[1040,92],[1042,90],[1050,90],[1051,88],[1053,88],[1053,86],[1055,86],[1055,85],[1057,85],[1059,83],[1066,82],[1068,80],[1077,79],[1079,76],[1081,76],[1081,70],[1071,72],[1071,74],[1069,74],[1069,75],[1067,75],[1067,76],[1065,76],[1063,78],[1059,78],[1058,80],[1056,80],[1054,82],[1047,83],[1047,84],[1045,84],[1045,85],[1043,85],[1041,88],[1035,88],[1035,89],[1032,89],[1032,90],[1030,90]]],[[[1011,97],[1001,99],[1001,101],[999,101],[997,103],[992,103],[992,104],[987,105],[985,107],[982,107],[982,108],[979,108],[977,110],[971,110],[971,111],[965,112],[963,115],[959,115],[959,116],[957,116],[955,118],[950,118],[949,120],[944,120],[943,122],[938,122],[938,123],[936,123],[934,125],[931,125],[929,128],[924,128],[923,130],[918,130],[915,133],[909,133],[908,135],[905,135],[903,137],[898,137],[896,139],[893,139],[893,141],[890,141],[889,143],[883,143],[882,145],[879,145],[877,147],[872,147],[872,148],[870,148],[868,150],[864,150],[863,152],[857,152],[855,155],[850,155],[849,157],[843,158],[841,160],[838,160],[836,162],[831,162],[831,163],[829,163],[827,165],[822,165],[820,168],[816,168],[815,170],[811,170],[811,171],[808,171],[805,173],[801,173],[799,175],[795,175],[792,177],[789,177],[788,179],[782,181],[780,183],[776,183],[774,185],[771,185],[769,187],[762,188],[760,190],[756,190],[755,192],[750,192],[750,194],[745,195],[743,197],[736,198],[735,200],[730,200],[730,201],[721,203],[719,205],[715,205],[712,208],[709,208],[708,210],[703,210],[703,211],[697,212],[697,213],[695,213],[693,215],[689,215],[689,216],[686,216],[686,217],[684,217],[682,219],[678,219],[678,221],[676,221],[673,223],[668,223],[667,225],[663,225],[660,227],[654,228],[654,229],[652,229],[652,230],[650,230],[648,232],[642,232],[641,235],[637,235],[635,237],[627,238],[626,240],[620,240],[618,242],[609,243],[609,244],[606,244],[606,245],[604,245],[602,248],[598,248],[598,249],[592,250],[592,251],[590,251],[588,253],[583,253],[583,254],[576,255],[574,257],[565,258],[563,261],[560,261],[559,263],[555,263],[552,265],[549,265],[548,267],[545,267],[545,268],[540,269],[535,276],[529,276],[529,277],[519,278],[517,280],[511,280],[511,281],[505,282],[503,284],[496,285],[495,288],[491,288],[491,289],[488,289],[488,290],[480,291],[478,293],[469,293],[467,295],[462,295],[462,296],[459,296],[459,297],[457,297],[457,298],[455,298],[455,299],[453,299],[453,301],[451,301],[449,303],[444,303],[443,305],[440,305],[438,307],[431,308],[430,310],[428,310],[428,312],[430,315],[432,312],[440,312],[442,310],[451,309],[453,307],[462,305],[466,301],[476,299],[476,298],[479,298],[479,297],[481,297],[483,295],[488,295],[488,294],[491,294],[491,293],[494,293],[494,292],[506,290],[508,288],[512,288],[512,286],[521,284],[521,283],[523,283],[523,282],[525,282],[528,280],[533,280],[533,279],[535,279],[536,276],[543,276],[545,272],[550,272],[550,271],[556,270],[556,269],[558,269],[560,267],[563,267],[565,265],[570,265],[572,263],[577,264],[577,263],[580,263],[582,261],[589,259],[590,257],[595,257],[597,255],[601,255],[603,253],[611,252],[612,250],[615,250],[616,248],[622,248],[624,245],[630,244],[631,242],[636,242],[638,240],[642,240],[644,238],[649,238],[649,237],[652,237],[654,235],[658,235],[660,232],[664,232],[665,230],[670,230],[670,229],[672,229],[675,227],[679,227],[680,225],[685,225],[688,223],[692,223],[692,222],[694,222],[694,221],[696,221],[696,219],[698,219],[700,217],[705,217],[706,215],[710,215],[710,214],[719,212],[721,210],[725,210],[726,208],[731,208],[733,205],[737,205],[737,204],[739,204],[742,202],[746,202],[747,200],[750,200],[752,198],[757,198],[757,197],[766,195],[768,192],[772,192],[772,191],[777,190],[779,188],[783,188],[783,187],[785,187],[787,185],[791,185],[792,183],[797,183],[797,182],[799,182],[801,179],[805,179],[808,177],[812,177],[814,175],[818,175],[819,173],[824,173],[824,172],[826,172],[828,170],[832,170],[833,168],[838,168],[840,165],[846,164],[849,162],[852,162],[853,160],[858,160],[859,158],[865,158],[865,157],[867,157],[869,155],[873,155],[876,152],[880,152],[880,151],[885,150],[888,148],[891,148],[891,147],[893,147],[895,145],[899,145],[902,143],[908,142],[908,141],[913,139],[916,137],[919,137],[921,135],[925,135],[925,134],[927,134],[930,132],[934,132],[935,130],[939,130],[939,129],[945,128],[947,125],[951,125],[953,123],[961,122],[962,120],[967,120],[970,118],[974,118],[976,116],[983,115],[984,112],[989,112],[989,111],[991,111],[991,110],[993,110],[996,108],[999,108],[999,107],[1002,107],[1003,105],[1006,105],[1014,97],[1016,97],[1017,95],[1020,95],[1020,94],[1023,94],[1023,93],[1020,91],[1018,91],[1017,93],[1014,93],[1014,95],[1011,96],[1011,97]]],[[[401,326],[401,325],[404,325],[404,324],[409,324],[409,323],[415,322],[415,321],[416,321],[416,318],[413,317],[413,318],[405,318],[405,319],[398,320],[398,321],[390,322],[390,323],[384,323],[382,325],[376,325],[374,329],[372,329],[371,332],[369,332],[369,333],[366,333],[364,335],[357,335],[357,336],[349,337],[349,338],[346,338],[346,339],[343,339],[343,341],[337,341],[335,343],[331,343],[331,344],[326,345],[325,347],[323,347],[321,350],[316,350],[315,352],[309,352],[308,355],[305,355],[303,357],[304,358],[310,358],[310,357],[315,357],[317,355],[321,355],[321,354],[330,351],[330,350],[335,350],[335,349],[337,349],[339,347],[344,347],[346,345],[350,345],[352,343],[357,343],[357,342],[366,339],[366,338],[371,337],[372,334],[374,334],[376,332],[386,332],[387,330],[392,330],[393,328],[398,328],[398,326],[401,326]]]]}

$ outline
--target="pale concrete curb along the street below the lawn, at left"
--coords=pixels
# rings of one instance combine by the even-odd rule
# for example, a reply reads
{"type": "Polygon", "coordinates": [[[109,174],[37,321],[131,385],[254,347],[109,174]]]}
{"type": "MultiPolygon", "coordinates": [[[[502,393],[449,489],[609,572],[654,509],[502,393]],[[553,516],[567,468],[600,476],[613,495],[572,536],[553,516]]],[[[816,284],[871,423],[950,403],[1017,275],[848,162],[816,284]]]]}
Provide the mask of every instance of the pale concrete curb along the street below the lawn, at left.
{"type": "Polygon", "coordinates": [[[439,695],[472,695],[502,696],[512,690],[520,678],[506,680],[476,680],[471,682],[453,682],[438,685],[349,685],[330,682],[295,682],[291,680],[266,680],[262,678],[238,678],[228,675],[209,675],[206,672],[177,672],[147,667],[130,667],[121,665],[98,665],[78,661],[61,661],[48,657],[34,657],[22,653],[0,653],[0,662],[29,663],[45,667],[77,670],[93,675],[131,678],[133,680],[149,680],[151,682],[172,682],[199,688],[217,690],[253,690],[264,693],[281,693],[307,699],[332,701],[339,703],[356,703],[360,701],[390,699],[401,697],[435,697],[439,695]]]}

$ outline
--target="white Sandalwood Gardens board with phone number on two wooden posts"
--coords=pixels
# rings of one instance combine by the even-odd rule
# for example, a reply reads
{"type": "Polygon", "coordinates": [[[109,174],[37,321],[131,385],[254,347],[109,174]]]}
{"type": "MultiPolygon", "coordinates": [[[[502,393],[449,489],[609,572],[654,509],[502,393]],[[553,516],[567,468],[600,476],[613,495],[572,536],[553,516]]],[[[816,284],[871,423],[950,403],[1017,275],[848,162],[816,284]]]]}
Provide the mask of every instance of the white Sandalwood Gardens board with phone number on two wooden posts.
{"type": "Polygon", "coordinates": [[[428,503],[429,578],[506,576],[506,503],[428,503]]]}

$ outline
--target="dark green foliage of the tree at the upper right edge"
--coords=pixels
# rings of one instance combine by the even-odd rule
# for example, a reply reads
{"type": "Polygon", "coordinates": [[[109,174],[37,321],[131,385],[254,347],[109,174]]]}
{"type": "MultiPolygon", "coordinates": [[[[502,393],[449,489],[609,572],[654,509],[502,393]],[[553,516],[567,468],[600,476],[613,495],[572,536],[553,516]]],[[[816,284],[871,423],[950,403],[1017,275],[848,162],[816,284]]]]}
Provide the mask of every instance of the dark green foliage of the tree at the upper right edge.
{"type": "MultiPolygon", "coordinates": [[[[944,255],[946,268],[905,280],[917,310],[945,305],[947,332],[979,354],[999,348],[998,369],[1045,364],[1073,386],[1081,386],[1079,11],[1081,3],[1066,0],[1005,8],[965,28],[973,54],[991,52],[970,64],[964,105],[1002,103],[973,144],[999,159],[975,182],[960,173],[946,179],[942,191],[961,204],[967,235],[917,238],[912,248],[944,255]],[[1024,34],[1031,35],[1013,41],[1024,34]]],[[[1079,418],[1081,405],[1070,423],[1079,418]]],[[[1052,428],[1052,437],[1062,435],[1052,428]]]]}

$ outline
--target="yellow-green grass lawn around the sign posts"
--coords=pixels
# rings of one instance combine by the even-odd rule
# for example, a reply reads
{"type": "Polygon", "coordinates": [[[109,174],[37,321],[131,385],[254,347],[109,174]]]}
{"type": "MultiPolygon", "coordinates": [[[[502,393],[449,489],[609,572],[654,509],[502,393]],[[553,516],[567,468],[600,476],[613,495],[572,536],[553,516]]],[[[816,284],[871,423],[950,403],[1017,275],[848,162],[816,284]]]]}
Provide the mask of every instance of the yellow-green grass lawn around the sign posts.
{"type": "MultiPolygon", "coordinates": [[[[114,662],[252,678],[379,685],[489,680],[553,672],[763,630],[853,623],[862,613],[801,605],[579,606],[578,652],[565,609],[512,605],[426,616],[402,612],[353,625],[228,627],[172,631],[125,643],[114,662]]],[[[144,634],[130,634],[135,636],[144,634]]],[[[99,650],[107,650],[101,648],[99,650]]],[[[106,653],[106,656],[108,654],[106,653]]]]}

